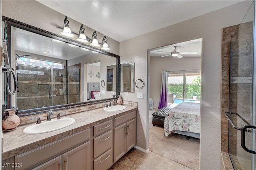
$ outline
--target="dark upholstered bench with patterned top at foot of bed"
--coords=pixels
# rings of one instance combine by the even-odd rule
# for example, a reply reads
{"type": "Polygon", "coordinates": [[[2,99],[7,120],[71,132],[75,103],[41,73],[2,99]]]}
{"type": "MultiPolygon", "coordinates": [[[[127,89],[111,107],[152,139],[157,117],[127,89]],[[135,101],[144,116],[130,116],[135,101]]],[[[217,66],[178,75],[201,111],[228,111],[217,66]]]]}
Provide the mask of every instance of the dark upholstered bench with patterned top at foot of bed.
{"type": "Polygon", "coordinates": [[[158,126],[164,126],[164,119],[166,117],[166,115],[168,114],[168,112],[171,110],[171,108],[169,107],[162,107],[161,109],[159,109],[158,111],[155,111],[152,116],[152,124],[153,126],[158,125],[158,126]]]}

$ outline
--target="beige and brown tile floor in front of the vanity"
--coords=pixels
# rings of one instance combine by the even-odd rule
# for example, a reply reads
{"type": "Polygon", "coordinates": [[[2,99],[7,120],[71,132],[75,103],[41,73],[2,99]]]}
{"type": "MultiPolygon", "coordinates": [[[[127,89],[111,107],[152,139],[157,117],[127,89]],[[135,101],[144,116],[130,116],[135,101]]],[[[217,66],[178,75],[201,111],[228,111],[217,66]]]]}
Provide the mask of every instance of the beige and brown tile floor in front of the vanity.
{"type": "Polygon", "coordinates": [[[191,170],[164,156],[132,148],[108,170],[191,170]]]}

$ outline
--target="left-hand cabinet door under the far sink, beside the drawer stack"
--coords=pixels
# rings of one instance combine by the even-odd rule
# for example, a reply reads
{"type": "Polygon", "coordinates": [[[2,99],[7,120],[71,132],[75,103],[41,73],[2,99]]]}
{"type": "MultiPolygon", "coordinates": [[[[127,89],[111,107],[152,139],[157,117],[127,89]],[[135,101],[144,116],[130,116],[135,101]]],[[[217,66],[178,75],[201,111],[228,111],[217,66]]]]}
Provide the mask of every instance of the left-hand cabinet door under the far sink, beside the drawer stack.
{"type": "Polygon", "coordinates": [[[126,123],[114,128],[114,162],[126,153],[126,123]]]}

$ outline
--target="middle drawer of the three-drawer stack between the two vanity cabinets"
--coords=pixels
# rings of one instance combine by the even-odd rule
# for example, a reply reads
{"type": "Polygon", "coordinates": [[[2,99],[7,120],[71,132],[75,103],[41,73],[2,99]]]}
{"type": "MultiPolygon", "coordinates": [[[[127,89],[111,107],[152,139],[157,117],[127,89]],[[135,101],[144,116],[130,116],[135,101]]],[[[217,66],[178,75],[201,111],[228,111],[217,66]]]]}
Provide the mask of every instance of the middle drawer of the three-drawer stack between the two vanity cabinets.
{"type": "Polygon", "coordinates": [[[96,138],[93,139],[93,158],[97,158],[104,152],[106,152],[108,149],[112,147],[112,141],[113,141],[113,135],[112,130],[109,132],[106,132],[96,138]]]}

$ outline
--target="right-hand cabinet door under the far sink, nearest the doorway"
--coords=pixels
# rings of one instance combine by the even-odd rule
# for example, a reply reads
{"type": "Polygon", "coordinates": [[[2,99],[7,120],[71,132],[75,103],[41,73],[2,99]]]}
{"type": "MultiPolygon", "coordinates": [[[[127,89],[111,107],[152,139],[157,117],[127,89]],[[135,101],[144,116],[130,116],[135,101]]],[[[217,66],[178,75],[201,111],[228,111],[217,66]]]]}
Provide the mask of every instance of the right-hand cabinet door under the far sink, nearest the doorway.
{"type": "Polygon", "coordinates": [[[127,122],[126,125],[126,152],[136,144],[136,119],[127,122]]]}

